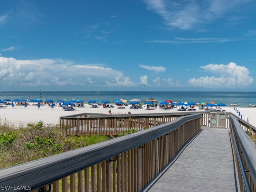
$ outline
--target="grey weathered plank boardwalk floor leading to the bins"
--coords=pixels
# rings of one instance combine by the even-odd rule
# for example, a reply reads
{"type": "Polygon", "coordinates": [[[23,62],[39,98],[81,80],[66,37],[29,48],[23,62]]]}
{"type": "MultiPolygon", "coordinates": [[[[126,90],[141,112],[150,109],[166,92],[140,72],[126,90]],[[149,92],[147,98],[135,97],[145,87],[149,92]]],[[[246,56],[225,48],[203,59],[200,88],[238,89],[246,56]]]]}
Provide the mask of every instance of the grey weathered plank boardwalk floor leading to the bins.
{"type": "Polygon", "coordinates": [[[239,192],[228,129],[202,127],[143,192],[239,192]]]}

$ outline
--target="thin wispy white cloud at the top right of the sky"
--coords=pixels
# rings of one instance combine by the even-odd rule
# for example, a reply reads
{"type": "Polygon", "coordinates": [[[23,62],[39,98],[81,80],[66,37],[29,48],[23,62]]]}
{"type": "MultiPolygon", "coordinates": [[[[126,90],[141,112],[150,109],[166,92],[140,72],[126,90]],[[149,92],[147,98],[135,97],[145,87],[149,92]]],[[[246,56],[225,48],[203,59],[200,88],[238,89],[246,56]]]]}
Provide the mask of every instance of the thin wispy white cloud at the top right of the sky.
{"type": "Polygon", "coordinates": [[[160,15],[164,24],[170,27],[190,30],[210,24],[216,19],[225,17],[226,21],[236,17],[234,10],[240,10],[243,4],[249,4],[253,0],[183,0],[183,1],[168,1],[168,0],[144,0],[148,10],[160,15]]]}

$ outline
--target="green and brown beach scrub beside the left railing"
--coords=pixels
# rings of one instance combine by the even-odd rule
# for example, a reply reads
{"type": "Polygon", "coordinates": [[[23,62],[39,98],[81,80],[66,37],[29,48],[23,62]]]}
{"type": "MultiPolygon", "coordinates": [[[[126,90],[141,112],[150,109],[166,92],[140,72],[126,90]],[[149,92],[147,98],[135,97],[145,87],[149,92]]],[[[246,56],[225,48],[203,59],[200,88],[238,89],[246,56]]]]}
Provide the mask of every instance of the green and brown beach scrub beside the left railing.
{"type": "Polygon", "coordinates": [[[67,136],[59,126],[28,124],[26,128],[0,125],[0,169],[108,140],[107,136],[67,136]]]}

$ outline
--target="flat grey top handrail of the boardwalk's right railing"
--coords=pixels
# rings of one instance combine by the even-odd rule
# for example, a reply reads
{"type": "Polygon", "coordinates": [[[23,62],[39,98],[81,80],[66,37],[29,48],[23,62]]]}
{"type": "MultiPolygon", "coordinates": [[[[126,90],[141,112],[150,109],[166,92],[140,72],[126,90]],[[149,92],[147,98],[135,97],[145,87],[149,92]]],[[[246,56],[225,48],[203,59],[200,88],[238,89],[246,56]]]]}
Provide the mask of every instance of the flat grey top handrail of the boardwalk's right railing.
{"type": "Polygon", "coordinates": [[[254,185],[256,185],[256,145],[241,128],[240,123],[235,116],[230,115],[230,121],[234,125],[236,140],[239,143],[244,160],[246,161],[246,166],[248,167],[248,170],[250,170],[252,181],[254,185]]]}

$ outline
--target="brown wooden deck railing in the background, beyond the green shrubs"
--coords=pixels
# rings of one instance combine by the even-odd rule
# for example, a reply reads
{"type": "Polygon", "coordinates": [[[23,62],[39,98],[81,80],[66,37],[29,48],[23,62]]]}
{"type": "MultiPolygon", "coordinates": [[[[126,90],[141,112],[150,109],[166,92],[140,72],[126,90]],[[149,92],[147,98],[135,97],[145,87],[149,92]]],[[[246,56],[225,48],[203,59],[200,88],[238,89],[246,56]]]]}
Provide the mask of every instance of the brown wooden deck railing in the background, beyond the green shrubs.
{"type": "MultiPolygon", "coordinates": [[[[172,122],[179,117],[190,114],[202,115],[201,125],[208,125],[210,118],[208,112],[122,115],[77,114],[77,116],[60,117],[60,130],[67,135],[117,135],[118,133],[124,133],[126,130],[134,129],[140,131],[172,122]]],[[[228,119],[226,119],[226,122],[228,122],[228,119]]]]}

